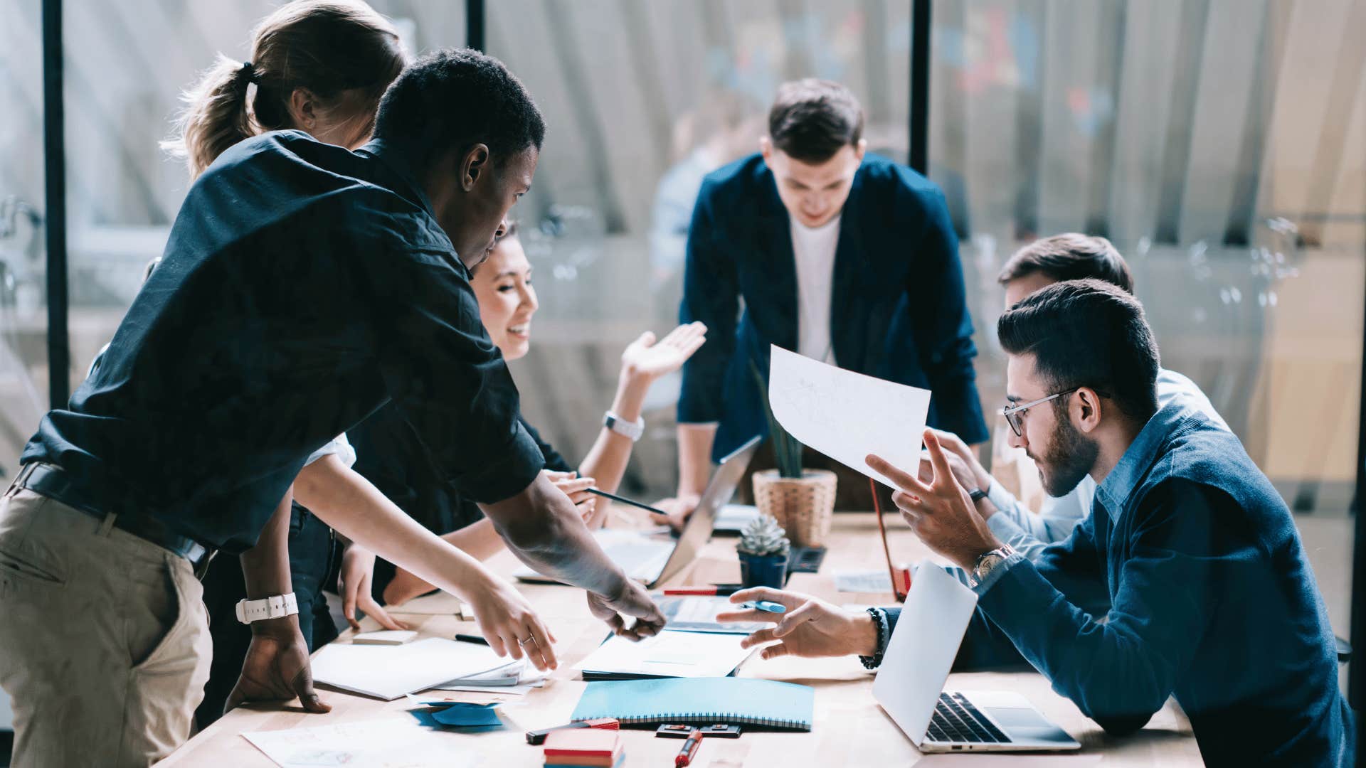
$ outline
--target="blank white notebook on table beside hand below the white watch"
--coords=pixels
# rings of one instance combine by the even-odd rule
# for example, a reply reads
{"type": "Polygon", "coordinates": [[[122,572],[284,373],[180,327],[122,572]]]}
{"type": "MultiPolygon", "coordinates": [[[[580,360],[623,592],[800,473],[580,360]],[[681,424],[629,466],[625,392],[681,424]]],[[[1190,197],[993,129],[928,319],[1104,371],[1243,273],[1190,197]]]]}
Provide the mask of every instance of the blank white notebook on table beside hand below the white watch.
{"type": "Polygon", "coordinates": [[[333,642],[313,656],[313,681],[392,701],[456,678],[515,664],[486,645],[429,637],[406,645],[333,642]]]}

